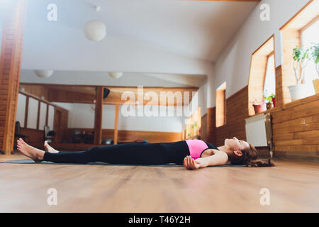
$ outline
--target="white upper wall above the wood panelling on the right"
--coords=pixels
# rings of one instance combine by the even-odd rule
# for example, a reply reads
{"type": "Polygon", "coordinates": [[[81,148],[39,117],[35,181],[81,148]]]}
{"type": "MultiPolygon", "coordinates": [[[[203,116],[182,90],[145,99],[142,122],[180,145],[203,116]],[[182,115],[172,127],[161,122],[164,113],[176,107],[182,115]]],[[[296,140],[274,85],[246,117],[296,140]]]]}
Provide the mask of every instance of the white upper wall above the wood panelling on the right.
{"type": "MultiPolygon", "coordinates": [[[[250,57],[270,36],[275,35],[276,67],[282,65],[282,44],[279,28],[295,15],[308,0],[262,0],[250,13],[247,21],[234,36],[227,48],[216,61],[216,77],[213,84],[216,90],[223,82],[227,83],[226,99],[247,86],[250,73],[250,57]],[[260,20],[260,6],[269,4],[270,21],[260,20]]],[[[213,92],[210,106],[216,106],[216,93],[213,92]]]]}

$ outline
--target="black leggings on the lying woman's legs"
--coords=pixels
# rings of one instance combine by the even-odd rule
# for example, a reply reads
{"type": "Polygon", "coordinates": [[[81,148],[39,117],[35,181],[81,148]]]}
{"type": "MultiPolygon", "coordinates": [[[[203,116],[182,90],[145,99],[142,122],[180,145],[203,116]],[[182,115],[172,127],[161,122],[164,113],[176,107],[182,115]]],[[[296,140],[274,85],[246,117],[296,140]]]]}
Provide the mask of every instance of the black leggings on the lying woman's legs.
{"type": "Polygon", "coordinates": [[[45,152],[44,161],[57,163],[107,162],[123,165],[183,165],[189,155],[185,140],[173,143],[122,143],[77,152],[45,152]]]}

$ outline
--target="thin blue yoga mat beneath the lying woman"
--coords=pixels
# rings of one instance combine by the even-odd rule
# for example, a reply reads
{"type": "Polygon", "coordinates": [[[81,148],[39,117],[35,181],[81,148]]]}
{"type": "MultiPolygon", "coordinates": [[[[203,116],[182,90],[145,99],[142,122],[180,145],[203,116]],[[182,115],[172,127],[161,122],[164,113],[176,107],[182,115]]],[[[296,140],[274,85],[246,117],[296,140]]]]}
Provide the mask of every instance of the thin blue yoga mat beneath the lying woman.
{"type": "MultiPolygon", "coordinates": [[[[77,163],[55,163],[55,162],[34,162],[32,159],[23,159],[23,160],[10,160],[4,161],[1,163],[18,163],[18,164],[54,164],[54,165],[119,165],[119,164],[110,164],[106,162],[89,162],[86,164],[77,164],[77,163]]],[[[132,166],[132,165],[124,165],[124,166],[132,166]]],[[[133,166],[184,166],[177,165],[175,163],[169,163],[166,165],[133,165],[133,166]]],[[[216,167],[246,167],[245,165],[216,165],[216,167]]]]}

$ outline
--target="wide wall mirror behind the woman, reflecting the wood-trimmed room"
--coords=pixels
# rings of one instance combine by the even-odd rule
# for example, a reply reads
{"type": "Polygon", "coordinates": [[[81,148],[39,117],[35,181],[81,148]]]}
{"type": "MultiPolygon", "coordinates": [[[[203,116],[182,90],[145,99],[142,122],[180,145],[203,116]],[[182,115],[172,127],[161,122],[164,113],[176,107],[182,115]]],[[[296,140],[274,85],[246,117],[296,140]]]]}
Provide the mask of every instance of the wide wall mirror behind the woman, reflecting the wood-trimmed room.
{"type": "MultiPolygon", "coordinates": [[[[44,126],[49,126],[50,131],[55,131],[52,143],[65,150],[95,144],[94,134],[99,130],[98,143],[102,145],[180,140],[184,116],[178,115],[177,110],[186,105],[186,99],[178,104],[174,95],[181,94],[190,102],[193,92],[198,90],[194,84],[200,85],[205,79],[201,75],[133,72],[124,72],[121,78],[113,79],[108,72],[58,70],[51,77],[40,78],[34,70],[22,69],[17,121],[25,132],[33,130],[39,136],[43,135],[44,126]],[[100,105],[99,87],[103,88],[100,105]],[[133,94],[134,99],[127,94],[133,94]],[[172,104],[168,104],[169,96],[173,98],[172,104]],[[161,103],[162,98],[166,103],[161,103]],[[23,106],[28,106],[28,110],[23,106]],[[96,126],[98,112],[102,113],[101,124],[96,126]]],[[[30,140],[39,143],[37,138],[30,140]]]]}

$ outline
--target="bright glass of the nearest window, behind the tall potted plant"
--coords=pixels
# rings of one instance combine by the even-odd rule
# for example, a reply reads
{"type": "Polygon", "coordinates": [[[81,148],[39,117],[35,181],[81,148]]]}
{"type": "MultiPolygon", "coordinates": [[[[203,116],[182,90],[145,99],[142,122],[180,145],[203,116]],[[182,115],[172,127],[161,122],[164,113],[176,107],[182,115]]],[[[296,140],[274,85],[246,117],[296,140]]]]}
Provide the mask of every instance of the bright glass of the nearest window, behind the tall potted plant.
{"type": "MultiPolygon", "coordinates": [[[[319,20],[315,19],[301,30],[301,45],[305,48],[310,48],[315,43],[319,43],[319,20]]],[[[317,70],[315,70],[315,62],[310,61],[305,69],[304,82],[307,85],[308,96],[315,94],[313,87],[313,79],[317,79],[317,70]]]]}

